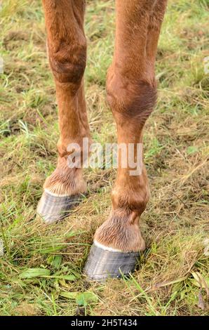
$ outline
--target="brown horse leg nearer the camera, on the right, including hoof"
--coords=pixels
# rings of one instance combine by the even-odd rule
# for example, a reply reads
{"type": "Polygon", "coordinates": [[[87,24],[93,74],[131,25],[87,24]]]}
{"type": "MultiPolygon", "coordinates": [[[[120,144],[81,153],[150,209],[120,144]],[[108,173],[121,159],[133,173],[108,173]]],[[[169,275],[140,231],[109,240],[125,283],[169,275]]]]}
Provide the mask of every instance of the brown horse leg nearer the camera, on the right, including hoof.
{"type": "MultiPolygon", "coordinates": [[[[107,96],[117,125],[118,143],[142,143],[144,123],[156,101],[154,60],[163,13],[155,12],[161,0],[116,0],[116,45],[107,77],[107,96]],[[156,31],[157,29],[157,31],[156,31]]],[[[165,2],[165,1],[163,1],[165,2]]],[[[85,272],[97,281],[119,277],[135,269],[139,251],[145,249],[139,218],[149,200],[144,166],[130,175],[130,166],[119,169],[112,191],[112,212],[95,232],[85,272]]],[[[132,172],[133,173],[133,172],[132,172]]]]}

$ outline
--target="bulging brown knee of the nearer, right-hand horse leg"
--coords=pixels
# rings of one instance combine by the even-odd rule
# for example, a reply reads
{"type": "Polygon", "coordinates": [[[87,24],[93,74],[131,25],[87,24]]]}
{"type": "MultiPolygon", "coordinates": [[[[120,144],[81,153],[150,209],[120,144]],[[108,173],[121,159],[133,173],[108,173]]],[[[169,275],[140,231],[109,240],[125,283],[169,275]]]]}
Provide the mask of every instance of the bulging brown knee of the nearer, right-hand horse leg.
{"type": "Polygon", "coordinates": [[[156,103],[156,81],[133,77],[132,79],[109,70],[107,100],[117,119],[127,119],[144,124],[156,103]]]}

